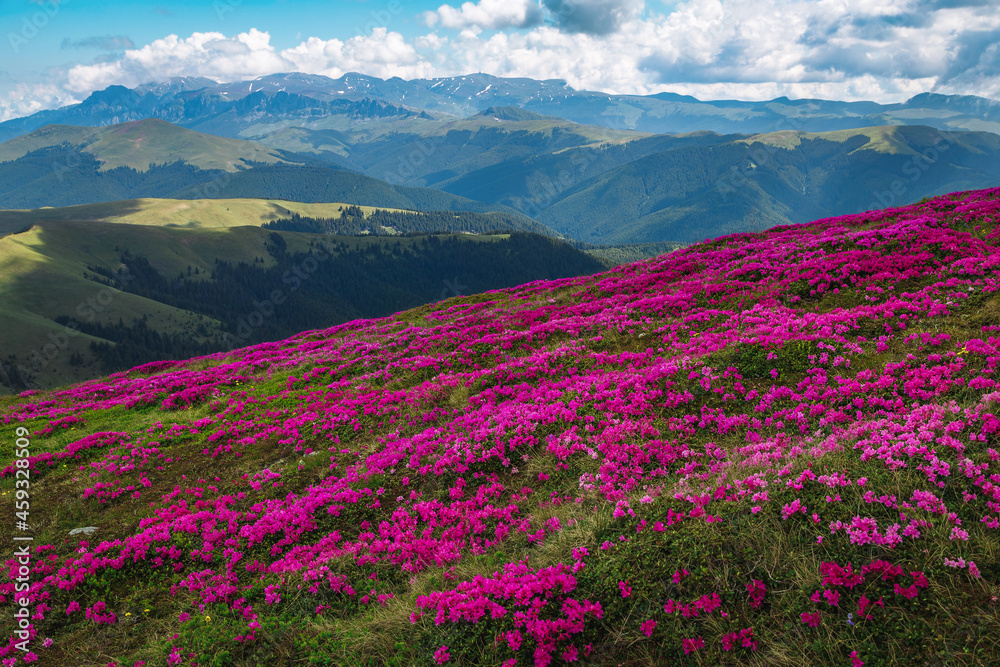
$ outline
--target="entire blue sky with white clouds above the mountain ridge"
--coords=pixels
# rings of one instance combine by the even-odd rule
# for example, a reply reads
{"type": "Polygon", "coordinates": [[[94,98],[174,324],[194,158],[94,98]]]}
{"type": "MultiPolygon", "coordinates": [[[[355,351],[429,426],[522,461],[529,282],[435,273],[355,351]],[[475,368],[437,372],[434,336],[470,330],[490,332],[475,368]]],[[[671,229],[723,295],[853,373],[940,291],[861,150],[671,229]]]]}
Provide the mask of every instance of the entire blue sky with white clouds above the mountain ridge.
{"type": "Polygon", "coordinates": [[[0,121],[95,90],[485,72],[700,99],[1000,99],[1000,0],[0,0],[0,121]]]}

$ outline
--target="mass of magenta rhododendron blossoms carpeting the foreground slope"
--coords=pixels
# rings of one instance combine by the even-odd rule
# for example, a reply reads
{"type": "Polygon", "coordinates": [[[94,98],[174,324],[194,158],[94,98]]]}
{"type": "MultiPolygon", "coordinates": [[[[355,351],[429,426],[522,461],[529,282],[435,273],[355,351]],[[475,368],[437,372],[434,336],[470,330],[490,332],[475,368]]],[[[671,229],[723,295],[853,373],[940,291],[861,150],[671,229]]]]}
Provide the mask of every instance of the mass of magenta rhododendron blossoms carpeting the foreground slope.
{"type": "MultiPolygon", "coordinates": [[[[370,578],[376,566],[448,572],[515,537],[543,545],[595,506],[613,521],[637,521],[631,537],[623,530],[593,556],[577,547],[567,564],[508,563],[416,598],[414,622],[512,619],[502,641],[513,651],[528,642],[543,665],[584,654],[574,638],[601,618],[602,603],[632,595],[621,581],[618,600],[571,597],[575,575],[593,567],[585,558],[613,557],[640,531],[723,521],[727,504],[758,513],[781,489],[801,493],[774,508],[782,525],[811,531],[817,543],[892,553],[945,531],[954,547],[945,564],[975,579],[976,536],[1000,528],[1000,325],[958,336],[935,324],[1000,291],[998,199],[1000,189],[960,193],[734,235],[594,277],[26,392],[0,415],[4,423],[36,424],[39,442],[81,433],[33,455],[32,469],[55,474],[66,464],[86,485],[76,501],[128,507],[139,519],[97,544],[35,546],[30,589],[18,595],[113,624],[120,614],[86,598],[85,582],[163,570],[180,575],[172,593],[194,596],[199,610],[230,608],[246,624],[238,639],[255,641],[258,614],[244,593],[254,586],[268,607],[286,604],[293,586],[384,605],[399,591],[370,578]],[[816,308],[826,303],[836,307],[816,308]],[[795,350],[801,363],[789,366],[795,350]],[[759,368],[740,361],[748,357],[759,368]],[[134,433],[87,432],[98,415],[122,409],[160,421],[134,433]],[[236,479],[176,476],[177,448],[192,440],[205,471],[262,449],[288,458],[236,479]],[[896,496],[867,477],[814,470],[835,452],[917,481],[896,496]],[[539,459],[545,472],[532,467],[539,459]],[[316,461],[324,474],[296,485],[316,461]],[[575,491],[547,491],[571,461],[592,465],[573,477],[575,491]],[[942,491],[956,480],[957,500],[942,491]],[[824,521],[850,490],[871,511],[824,521]],[[807,506],[812,492],[826,501],[807,506]],[[683,511],[655,520],[662,500],[683,511]],[[356,573],[334,572],[334,559],[356,573]]],[[[0,477],[14,473],[8,466],[0,477]]],[[[824,563],[821,574],[817,608],[801,616],[809,626],[842,607],[859,578],[880,577],[903,599],[929,585],[890,561],[859,571],[824,563]]],[[[688,575],[678,567],[674,583],[688,575]]],[[[6,560],[0,604],[12,603],[16,576],[6,560]]],[[[671,599],[666,613],[720,609],[718,592],[698,593],[671,599]]],[[[746,595],[760,608],[765,582],[752,579],[746,595]]],[[[888,604],[851,600],[863,618],[888,604]]],[[[46,609],[32,632],[47,629],[46,609]]],[[[646,636],[657,632],[655,619],[636,623],[646,636]]],[[[14,654],[13,639],[0,658],[14,654]]],[[[756,647],[751,627],[716,640],[727,651],[756,647]]],[[[685,653],[704,645],[703,636],[681,642],[685,653]]],[[[452,659],[451,646],[433,659],[452,659]]]]}

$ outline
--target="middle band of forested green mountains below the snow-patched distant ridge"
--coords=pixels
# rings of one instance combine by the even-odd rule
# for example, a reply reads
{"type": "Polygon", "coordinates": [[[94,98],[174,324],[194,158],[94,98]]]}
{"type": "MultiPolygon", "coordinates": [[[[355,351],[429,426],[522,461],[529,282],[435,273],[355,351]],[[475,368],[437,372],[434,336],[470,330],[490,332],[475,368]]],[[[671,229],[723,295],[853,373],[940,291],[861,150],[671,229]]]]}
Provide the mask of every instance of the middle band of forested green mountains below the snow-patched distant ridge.
{"type": "Polygon", "coordinates": [[[0,207],[149,197],[342,202],[492,211],[516,221],[511,228],[591,244],[691,243],[1000,181],[1000,135],[990,132],[883,125],[649,135],[515,107],[394,122],[402,124],[352,137],[286,128],[260,141],[159,119],[45,126],[0,144],[0,207]]]}

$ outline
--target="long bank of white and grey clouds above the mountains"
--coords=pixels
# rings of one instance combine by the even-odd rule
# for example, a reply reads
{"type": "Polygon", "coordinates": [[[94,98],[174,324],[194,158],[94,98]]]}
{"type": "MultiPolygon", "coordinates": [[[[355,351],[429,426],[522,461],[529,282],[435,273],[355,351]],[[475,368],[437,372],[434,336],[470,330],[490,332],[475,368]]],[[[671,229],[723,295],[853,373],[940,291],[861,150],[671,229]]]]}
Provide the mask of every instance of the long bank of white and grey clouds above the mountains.
{"type": "Polygon", "coordinates": [[[1000,98],[1000,14],[985,0],[687,0],[662,14],[640,14],[643,3],[632,0],[576,0],[583,13],[575,20],[601,9],[612,12],[607,21],[615,26],[576,32],[569,18],[551,12],[556,4],[546,0],[546,21],[528,30],[486,32],[523,23],[541,6],[535,0],[480,0],[442,5],[434,29],[412,39],[376,28],[346,40],[309,37],[284,50],[259,30],[170,35],[115,60],[69,68],[53,85],[22,85],[0,98],[0,119],[111,84],[288,71],[404,79],[482,71],[702,99],[895,102],[929,90],[1000,98]]]}

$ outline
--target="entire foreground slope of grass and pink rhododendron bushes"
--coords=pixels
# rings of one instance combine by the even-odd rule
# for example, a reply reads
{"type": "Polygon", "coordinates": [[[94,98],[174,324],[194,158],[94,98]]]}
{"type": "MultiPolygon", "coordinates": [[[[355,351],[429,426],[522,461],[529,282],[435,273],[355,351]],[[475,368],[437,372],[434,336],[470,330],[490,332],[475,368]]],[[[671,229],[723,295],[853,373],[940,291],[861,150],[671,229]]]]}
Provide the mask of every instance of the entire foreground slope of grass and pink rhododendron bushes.
{"type": "Polygon", "coordinates": [[[33,541],[0,605],[33,615],[0,663],[1000,664],[998,217],[958,193],[6,398],[33,541]]]}

